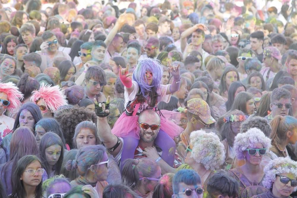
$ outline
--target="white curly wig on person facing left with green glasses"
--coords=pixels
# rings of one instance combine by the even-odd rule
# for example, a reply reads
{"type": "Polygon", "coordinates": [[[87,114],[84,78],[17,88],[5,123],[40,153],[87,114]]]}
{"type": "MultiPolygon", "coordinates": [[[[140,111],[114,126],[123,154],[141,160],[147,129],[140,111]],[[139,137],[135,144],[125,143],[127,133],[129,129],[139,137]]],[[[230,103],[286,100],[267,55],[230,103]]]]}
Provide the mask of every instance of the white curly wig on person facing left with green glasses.
{"type": "Polygon", "coordinates": [[[191,157],[204,165],[206,170],[215,170],[225,162],[224,145],[217,134],[193,131],[190,135],[191,157]]]}

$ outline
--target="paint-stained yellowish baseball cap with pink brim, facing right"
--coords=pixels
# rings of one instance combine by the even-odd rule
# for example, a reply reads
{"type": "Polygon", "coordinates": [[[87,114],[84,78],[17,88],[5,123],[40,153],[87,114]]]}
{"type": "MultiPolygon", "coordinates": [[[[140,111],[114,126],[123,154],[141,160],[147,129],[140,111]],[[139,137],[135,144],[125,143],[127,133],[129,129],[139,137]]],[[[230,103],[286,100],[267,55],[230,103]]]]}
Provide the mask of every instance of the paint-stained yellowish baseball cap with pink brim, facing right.
{"type": "Polygon", "coordinates": [[[187,111],[198,115],[199,118],[206,124],[212,124],[216,121],[210,115],[210,108],[208,104],[200,98],[193,98],[187,102],[187,111]]]}

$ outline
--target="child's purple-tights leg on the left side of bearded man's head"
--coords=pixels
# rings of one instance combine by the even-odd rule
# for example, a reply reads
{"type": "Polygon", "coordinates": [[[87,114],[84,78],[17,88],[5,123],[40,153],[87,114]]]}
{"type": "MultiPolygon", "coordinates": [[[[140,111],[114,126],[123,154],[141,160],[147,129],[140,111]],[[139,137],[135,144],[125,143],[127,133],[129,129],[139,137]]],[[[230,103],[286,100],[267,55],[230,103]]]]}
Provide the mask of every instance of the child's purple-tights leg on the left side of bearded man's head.
{"type": "Polygon", "coordinates": [[[134,152],[138,146],[139,140],[134,137],[124,137],[123,152],[121,155],[121,169],[126,159],[134,159],[134,152]]]}

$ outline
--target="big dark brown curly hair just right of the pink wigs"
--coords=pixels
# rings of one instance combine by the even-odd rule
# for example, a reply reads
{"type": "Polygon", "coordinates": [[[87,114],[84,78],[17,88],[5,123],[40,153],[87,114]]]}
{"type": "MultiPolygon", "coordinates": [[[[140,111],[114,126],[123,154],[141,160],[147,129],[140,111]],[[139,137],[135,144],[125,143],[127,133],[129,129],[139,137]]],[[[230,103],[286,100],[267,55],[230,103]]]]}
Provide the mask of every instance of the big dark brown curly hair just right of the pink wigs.
{"type": "MultiPolygon", "coordinates": [[[[59,110],[57,110],[58,112],[59,110]]],[[[63,111],[63,109],[61,110],[63,111]]],[[[54,118],[60,123],[66,143],[72,149],[72,138],[75,133],[75,127],[82,121],[93,121],[97,123],[95,112],[90,112],[85,107],[73,106],[67,111],[55,113],[54,118]]]]}

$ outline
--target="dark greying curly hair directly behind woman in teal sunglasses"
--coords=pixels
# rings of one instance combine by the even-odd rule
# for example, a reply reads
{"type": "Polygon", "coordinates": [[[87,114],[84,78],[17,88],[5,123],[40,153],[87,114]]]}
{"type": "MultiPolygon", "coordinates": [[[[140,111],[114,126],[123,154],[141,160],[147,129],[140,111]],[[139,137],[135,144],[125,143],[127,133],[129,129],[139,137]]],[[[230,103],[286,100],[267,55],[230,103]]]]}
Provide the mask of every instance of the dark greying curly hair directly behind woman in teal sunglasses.
{"type": "Polygon", "coordinates": [[[268,121],[265,118],[260,116],[252,116],[241,123],[240,132],[245,133],[247,132],[247,130],[254,127],[260,129],[266,137],[270,137],[270,133],[272,130],[271,126],[268,124],[268,121]]]}

